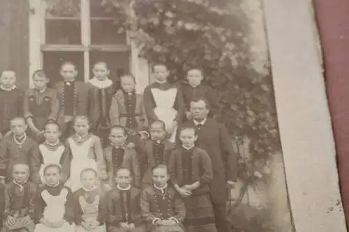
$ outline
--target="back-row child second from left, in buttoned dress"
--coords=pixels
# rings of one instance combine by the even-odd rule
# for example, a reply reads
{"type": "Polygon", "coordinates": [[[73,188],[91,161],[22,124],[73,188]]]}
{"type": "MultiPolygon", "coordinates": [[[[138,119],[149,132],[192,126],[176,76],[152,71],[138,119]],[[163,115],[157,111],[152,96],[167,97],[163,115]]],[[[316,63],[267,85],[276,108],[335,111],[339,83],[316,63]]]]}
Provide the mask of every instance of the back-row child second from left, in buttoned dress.
{"type": "Polygon", "coordinates": [[[24,118],[29,125],[29,135],[38,143],[43,142],[43,130],[49,121],[56,121],[59,111],[57,91],[47,88],[48,77],[43,70],[33,74],[34,88],[24,94],[24,118]]]}

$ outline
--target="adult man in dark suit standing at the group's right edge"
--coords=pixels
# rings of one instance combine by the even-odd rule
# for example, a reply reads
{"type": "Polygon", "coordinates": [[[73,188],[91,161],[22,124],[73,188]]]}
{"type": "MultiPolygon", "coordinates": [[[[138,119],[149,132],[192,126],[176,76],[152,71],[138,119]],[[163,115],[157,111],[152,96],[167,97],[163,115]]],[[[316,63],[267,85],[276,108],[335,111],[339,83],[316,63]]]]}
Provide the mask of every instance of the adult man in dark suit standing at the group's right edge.
{"type": "MultiPolygon", "coordinates": [[[[226,221],[227,187],[235,187],[237,181],[237,155],[227,128],[215,119],[207,117],[209,107],[209,102],[205,98],[194,98],[190,108],[193,119],[186,121],[180,127],[195,126],[198,129],[197,146],[206,150],[211,157],[214,180],[210,193],[216,226],[218,232],[227,232],[229,231],[226,221]]],[[[180,144],[178,137],[177,141],[177,144],[180,144]]]]}

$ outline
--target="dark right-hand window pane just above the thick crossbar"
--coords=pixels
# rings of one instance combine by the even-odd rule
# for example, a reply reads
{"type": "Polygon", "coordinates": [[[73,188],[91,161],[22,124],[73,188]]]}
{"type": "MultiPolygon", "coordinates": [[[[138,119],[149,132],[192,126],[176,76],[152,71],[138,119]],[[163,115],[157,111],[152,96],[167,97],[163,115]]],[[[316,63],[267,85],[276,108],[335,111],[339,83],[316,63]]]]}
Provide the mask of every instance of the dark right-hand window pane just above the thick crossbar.
{"type": "Polygon", "coordinates": [[[126,45],[126,31],[114,20],[91,20],[93,45],[126,45]]]}

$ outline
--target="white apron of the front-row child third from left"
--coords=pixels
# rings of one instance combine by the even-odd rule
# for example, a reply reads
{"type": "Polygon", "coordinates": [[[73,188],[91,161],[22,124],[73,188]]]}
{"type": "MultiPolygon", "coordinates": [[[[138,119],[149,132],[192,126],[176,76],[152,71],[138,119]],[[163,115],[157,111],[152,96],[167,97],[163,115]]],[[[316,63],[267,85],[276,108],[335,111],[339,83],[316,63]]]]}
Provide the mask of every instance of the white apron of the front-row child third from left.
{"type": "MultiPolygon", "coordinates": [[[[98,218],[98,205],[100,203],[100,196],[95,196],[94,201],[92,203],[88,203],[84,196],[80,196],[79,203],[82,208],[82,219],[84,219],[84,222],[92,222],[98,218]]],[[[105,225],[98,226],[93,231],[88,232],[106,232],[107,229],[105,225]]],[[[75,232],[87,232],[85,229],[82,228],[82,226],[75,226],[75,232]]]]}

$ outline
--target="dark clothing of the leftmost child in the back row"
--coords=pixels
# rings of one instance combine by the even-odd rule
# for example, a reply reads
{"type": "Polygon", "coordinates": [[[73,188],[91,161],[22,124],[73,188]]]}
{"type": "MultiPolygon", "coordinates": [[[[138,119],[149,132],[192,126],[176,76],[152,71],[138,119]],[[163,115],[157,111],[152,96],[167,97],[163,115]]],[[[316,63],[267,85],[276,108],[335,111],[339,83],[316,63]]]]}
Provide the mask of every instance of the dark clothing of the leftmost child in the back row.
{"type": "Polygon", "coordinates": [[[23,91],[15,88],[4,91],[0,88],[0,132],[6,134],[10,130],[10,121],[17,116],[23,116],[23,91]]]}

